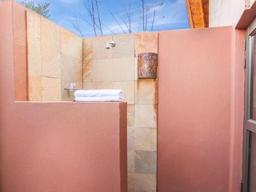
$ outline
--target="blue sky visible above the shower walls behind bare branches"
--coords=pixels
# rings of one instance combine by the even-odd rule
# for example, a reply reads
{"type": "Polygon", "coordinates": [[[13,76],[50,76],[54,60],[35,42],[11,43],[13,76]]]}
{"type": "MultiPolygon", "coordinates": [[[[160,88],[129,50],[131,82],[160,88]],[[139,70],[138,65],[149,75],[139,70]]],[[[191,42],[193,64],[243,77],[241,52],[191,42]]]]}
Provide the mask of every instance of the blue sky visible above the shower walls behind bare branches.
{"type": "MultiPolygon", "coordinates": [[[[17,0],[20,2],[21,0],[17,0]]],[[[30,0],[31,1],[31,0],[30,0]]],[[[83,1],[88,0],[34,0],[35,3],[51,3],[50,5],[50,20],[58,25],[80,35],[79,32],[73,27],[70,20],[73,22],[76,16],[78,25],[82,31],[83,36],[95,36],[93,28],[88,25],[80,17],[83,16],[86,20],[90,21],[90,16],[84,8],[83,1]]],[[[153,31],[171,30],[171,29],[186,29],[189,28],[187,12],[184,0],[145,0],[147,5],[158,4],[164,2],[164,5],[156,12],[156,19],[154,22],[153,31]]],[[[123,24],[120,17],[125,21],[127,20],[125,8],[131,6],[131,24],[132,32],[138,32],[139,28],[139,13],[141,12],[140,0],[98,0],[99,12],[101,15],[102,23],[108,26],[115,34],[123,33],[120,26],[115,22],[114,18],[109,13],[109,10],[118,19],[118,22],[127,33],[127,28],[123,24]],[[124,8],[125,7],[125,8],[124,8]]],[[[147,31],[151,31],[153,20],[153,13],[148,16],[147,31]]],[[[103,35],[113,34],[105,27],[103,28],[103,35]]],[[[81,36],[81,35],[80,35],[81,36]]]]}

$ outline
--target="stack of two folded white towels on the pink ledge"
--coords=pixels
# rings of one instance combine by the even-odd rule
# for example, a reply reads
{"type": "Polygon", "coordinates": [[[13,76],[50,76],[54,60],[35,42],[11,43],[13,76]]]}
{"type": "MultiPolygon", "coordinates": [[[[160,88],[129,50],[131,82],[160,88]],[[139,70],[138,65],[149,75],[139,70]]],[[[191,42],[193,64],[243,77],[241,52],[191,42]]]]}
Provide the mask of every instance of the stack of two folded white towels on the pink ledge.
{"type": "Polygon", "coordinates": [[[78,102],[123,101],[122,90],[78,90],[74,96],[78,102]]]}

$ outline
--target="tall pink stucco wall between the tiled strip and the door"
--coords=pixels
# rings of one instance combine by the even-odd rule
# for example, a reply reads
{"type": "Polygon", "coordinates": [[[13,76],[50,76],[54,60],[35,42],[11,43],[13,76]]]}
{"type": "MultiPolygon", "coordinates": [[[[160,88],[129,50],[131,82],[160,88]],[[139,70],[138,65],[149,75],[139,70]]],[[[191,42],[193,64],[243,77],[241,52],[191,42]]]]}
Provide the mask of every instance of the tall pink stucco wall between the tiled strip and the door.
{"type": "Polygon", "coordinates": [[[239,191],[243,38],[231,27],[159,32],[158,191],[239,191]]]}

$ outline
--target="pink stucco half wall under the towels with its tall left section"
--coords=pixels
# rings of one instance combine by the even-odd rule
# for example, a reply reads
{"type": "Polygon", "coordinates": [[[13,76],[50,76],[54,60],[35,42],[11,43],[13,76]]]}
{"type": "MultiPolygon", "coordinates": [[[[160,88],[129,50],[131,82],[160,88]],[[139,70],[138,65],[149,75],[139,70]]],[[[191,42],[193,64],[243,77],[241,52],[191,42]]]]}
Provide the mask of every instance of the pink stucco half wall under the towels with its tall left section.
{"type": "Polygon", "coordinates": [[[15,102],[16,8],[0,2],[0,191],[126,191],[126,103],[15,102]]]}

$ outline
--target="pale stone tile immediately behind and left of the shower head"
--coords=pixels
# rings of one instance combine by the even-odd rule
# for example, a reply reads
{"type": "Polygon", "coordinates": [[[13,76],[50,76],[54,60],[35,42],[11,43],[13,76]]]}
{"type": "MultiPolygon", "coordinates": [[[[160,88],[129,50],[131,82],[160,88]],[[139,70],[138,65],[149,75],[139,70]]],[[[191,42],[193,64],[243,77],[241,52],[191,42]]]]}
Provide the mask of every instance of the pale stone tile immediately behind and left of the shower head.
{"type": "Polygon", "coordinates": [[[101,36],[93,38],[93,59],[112,58],[113,49],[106,49],[106,43],[112,41],[112,36],[101,36]]]}

